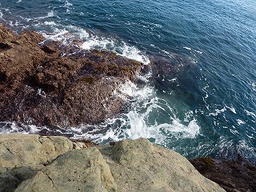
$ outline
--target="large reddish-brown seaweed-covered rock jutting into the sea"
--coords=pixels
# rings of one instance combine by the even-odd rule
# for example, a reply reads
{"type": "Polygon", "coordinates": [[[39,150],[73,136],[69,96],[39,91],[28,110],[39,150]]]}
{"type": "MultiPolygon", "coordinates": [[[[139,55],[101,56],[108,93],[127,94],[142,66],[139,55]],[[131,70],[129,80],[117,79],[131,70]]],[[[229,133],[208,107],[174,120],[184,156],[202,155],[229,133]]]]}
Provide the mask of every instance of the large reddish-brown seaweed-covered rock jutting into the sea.
{"type": "Polygon", "coordinates": [[[134,81],[141,67],[111,52],[63,46],[28,30],[15,35],[0,26],[0,122],[63,128],[100,122],[122,110],[118,86],[134,81]]]}

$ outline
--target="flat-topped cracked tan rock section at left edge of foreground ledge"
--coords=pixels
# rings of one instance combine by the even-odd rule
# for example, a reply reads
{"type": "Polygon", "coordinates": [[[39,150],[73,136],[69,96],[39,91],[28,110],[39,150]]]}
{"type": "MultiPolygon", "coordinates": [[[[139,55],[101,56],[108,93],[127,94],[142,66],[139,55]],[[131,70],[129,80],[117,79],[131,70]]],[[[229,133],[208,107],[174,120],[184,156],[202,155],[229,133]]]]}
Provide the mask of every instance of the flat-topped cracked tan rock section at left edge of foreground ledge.
{"type": "Polygon", "coordinates": [[[71,149],[73,142],[64,137],[0,134],[1,170],[20,166],[41,167],[71,149]]]}

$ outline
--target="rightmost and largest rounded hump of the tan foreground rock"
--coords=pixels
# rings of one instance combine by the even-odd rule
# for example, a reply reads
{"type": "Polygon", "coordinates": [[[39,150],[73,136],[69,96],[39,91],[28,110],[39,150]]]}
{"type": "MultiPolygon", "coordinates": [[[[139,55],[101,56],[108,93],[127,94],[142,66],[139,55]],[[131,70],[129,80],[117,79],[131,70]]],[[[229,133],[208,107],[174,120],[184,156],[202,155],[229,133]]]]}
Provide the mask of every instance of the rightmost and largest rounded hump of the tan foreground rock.
{"type": "Polygon", "coordinates": [[[146,139],[117,142],[99,150],[118,191],[225,191],[199,174],[182,155],[146,139]]]}

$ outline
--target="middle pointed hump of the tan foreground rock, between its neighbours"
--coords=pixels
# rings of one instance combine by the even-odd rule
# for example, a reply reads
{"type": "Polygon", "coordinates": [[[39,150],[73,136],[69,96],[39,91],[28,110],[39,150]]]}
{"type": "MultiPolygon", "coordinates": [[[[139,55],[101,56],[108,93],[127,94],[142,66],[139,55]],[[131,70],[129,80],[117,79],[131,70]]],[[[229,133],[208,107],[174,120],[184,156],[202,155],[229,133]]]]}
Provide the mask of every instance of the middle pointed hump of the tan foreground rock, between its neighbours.
{"type": "Polygon", "coordinates": [[[95,148],[71,150],[59,156],[15,191],[116,191],[102,154],[95,148]]]}

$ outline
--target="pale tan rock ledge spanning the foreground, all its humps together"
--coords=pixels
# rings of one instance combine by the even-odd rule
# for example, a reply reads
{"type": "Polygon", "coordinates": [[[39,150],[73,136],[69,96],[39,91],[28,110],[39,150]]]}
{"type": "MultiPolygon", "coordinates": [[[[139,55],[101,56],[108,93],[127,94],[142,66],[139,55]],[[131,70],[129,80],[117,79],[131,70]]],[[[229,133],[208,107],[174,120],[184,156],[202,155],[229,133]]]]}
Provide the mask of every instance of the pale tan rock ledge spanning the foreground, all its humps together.
{"type": "Polygon", "coordinates": [[[0,191],[225,191],[146,139],[110,144],[79,148],[64,137],[1,134],[0,191]]]}

